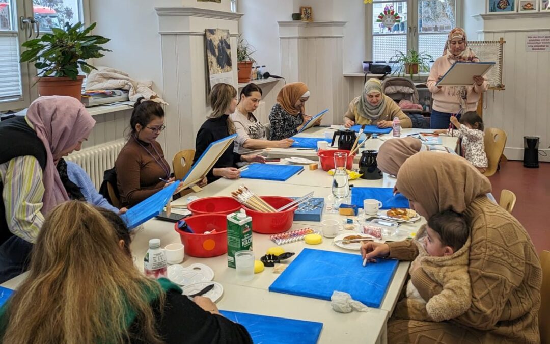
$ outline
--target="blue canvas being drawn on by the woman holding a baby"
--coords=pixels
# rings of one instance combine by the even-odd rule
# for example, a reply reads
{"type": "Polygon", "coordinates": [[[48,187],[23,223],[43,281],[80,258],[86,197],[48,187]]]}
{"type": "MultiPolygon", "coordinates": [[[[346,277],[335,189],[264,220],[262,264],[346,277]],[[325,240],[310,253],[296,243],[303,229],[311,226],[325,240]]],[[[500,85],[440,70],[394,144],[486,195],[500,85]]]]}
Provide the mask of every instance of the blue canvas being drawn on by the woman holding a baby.
{"type": "Polygon", "coordinates": [[[334,291],[341,291],[368,307],[378,308],[399,261],[378,259],[366,266],[362,263],[359,253],[305,248],[269,290],[323,300],[330,300],[334,291]]]}

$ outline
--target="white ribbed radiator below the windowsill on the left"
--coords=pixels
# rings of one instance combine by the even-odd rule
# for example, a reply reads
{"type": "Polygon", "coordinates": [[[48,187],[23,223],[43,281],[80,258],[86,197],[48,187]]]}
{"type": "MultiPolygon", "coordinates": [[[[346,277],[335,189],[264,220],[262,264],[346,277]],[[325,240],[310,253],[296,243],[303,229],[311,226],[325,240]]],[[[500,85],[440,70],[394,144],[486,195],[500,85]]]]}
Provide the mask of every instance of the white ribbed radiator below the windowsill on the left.
{"type": "Polygon", "coordinates": [[[103,182],[103,172],[114,167],[118,153],[124,147],[126,140],[111,141],[70,154],[66,160],[78,163],[92,179],[96,189],[103,182]]]}

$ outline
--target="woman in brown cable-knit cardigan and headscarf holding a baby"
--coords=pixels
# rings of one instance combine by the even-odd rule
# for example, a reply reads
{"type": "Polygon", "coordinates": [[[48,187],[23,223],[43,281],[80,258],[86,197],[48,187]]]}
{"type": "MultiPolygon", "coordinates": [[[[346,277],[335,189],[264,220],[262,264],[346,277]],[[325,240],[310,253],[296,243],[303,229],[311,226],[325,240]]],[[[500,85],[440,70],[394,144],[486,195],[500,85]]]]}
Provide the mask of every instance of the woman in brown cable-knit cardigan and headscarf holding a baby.
{"type": "MultiPolygon", "coordinates": [[[[397,188],[420,215],[453,210],[470,227],[470,309],[449,322],[390,319],[388,342],[539,343],[542,271],[535,247],[521,224],[485,196],[491,183],[469,162],[452,154],[420,152],[405,161],[397,188]]],[[[362,245],[364,258],[413,260],[412,241],[362,245]]],[[[411,273],[422,298],[441,292],[422,269],[411,273]]]]}

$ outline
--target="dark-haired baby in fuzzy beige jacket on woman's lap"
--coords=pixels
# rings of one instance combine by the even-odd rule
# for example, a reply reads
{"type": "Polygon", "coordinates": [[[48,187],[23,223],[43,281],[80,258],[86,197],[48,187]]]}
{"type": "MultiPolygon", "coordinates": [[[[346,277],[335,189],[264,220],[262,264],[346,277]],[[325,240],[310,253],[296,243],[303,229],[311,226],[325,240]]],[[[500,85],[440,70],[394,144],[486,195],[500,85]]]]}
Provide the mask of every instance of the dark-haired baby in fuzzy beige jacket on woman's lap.
{"type": "Polygon", "coordinates": [[[412,262],[410,274],[422,269],[443,290],[426,302],[409,280],[406,298],[399,301],[395,316],[421,321],[444,321],[456,318],[470,308],[471,287],[468,274],[470,231],[463,216],[443,211],[428,220],[416,241],[419,255],[412,262]]]}

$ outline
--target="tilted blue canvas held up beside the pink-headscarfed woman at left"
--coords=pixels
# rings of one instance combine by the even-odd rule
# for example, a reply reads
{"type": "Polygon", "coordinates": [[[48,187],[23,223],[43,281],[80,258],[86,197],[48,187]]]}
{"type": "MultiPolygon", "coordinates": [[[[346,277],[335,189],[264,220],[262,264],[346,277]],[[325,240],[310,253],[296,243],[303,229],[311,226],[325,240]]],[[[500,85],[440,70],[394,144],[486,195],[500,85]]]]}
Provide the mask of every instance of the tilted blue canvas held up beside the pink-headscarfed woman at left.
{"type": "Polygon", "coordinates": [[[131,230],[138,227],[141,223],[149,221],[158,214],[161,214],[164,206],[166,206],[175,190],[178,188],[179,183],[181,182],[176,181],[168,185],[166,188],[128,209],[125,214],[120,215],[128,229],[131,230]]]}

